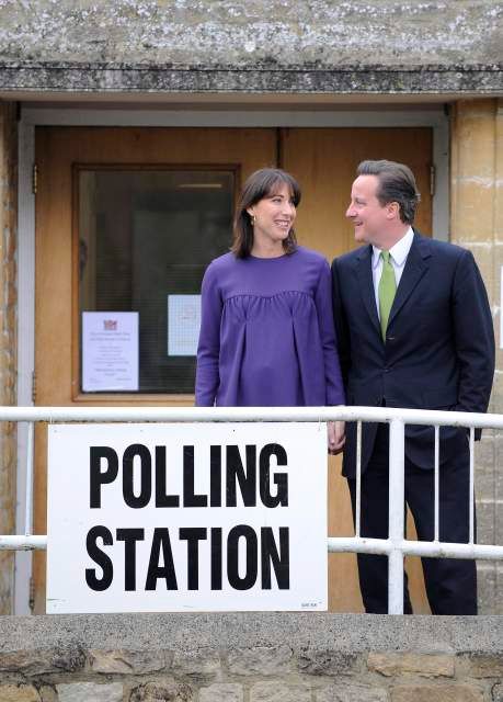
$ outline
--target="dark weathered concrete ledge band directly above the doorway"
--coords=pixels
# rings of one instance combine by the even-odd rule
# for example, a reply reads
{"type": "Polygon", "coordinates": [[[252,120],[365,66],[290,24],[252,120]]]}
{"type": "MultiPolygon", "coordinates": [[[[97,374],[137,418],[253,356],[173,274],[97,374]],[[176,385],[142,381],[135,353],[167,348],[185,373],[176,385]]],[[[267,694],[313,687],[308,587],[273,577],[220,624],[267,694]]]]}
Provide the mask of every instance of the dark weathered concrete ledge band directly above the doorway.
{"type": "Polygon", "coordinates": [[[0,91],[503,95],[503,66],[296,67],[0,64],[0,91]]]}

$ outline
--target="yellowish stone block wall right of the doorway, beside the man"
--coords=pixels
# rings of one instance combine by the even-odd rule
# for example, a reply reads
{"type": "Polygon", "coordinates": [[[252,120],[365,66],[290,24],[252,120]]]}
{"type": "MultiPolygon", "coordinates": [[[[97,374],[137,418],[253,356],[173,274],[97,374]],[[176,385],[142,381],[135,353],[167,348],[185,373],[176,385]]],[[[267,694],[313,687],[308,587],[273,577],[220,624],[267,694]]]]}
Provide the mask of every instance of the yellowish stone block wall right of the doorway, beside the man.
{"type": "MultiPolygon", "coordinates": [[[[451,235],[480,267],[494,318],[496,371],[490,411],[503,412],[500,346],[503,265],[503,101],[460,101],[451,123],[451,235]]],[[[503,433],[485,431],[477,446],[478,539],[503,544],[503,433]]],[[[503,614],[503,566],[479,563],[480,609],[503,614]]]]}

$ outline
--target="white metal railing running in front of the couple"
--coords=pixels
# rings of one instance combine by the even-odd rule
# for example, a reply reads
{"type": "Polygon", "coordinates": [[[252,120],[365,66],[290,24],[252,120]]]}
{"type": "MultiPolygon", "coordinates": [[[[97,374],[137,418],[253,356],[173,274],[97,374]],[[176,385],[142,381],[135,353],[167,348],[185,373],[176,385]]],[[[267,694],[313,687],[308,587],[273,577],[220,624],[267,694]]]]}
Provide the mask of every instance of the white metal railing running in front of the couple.
{"type": "Polygon", "coordinates": [[[32,533],[34,422],[356,422],[356,505],[355,535],[328,537],[332,553],[367,553],[388,557],[388,611],[403,613],[403,558],[405,555],[432,558],[503,559],[503,545],[475,543],[473,439],[476,429],[503,429],[503,415],[480,415],[391,407],[0,407],[0,421],[27,422],[26,499],[24,535],[0,535],[0,550],[45,550],[47,536],[32,533]],[[389,423],[389,532],[388,539],[361,536],[362,422],[389,423]],[[404,537],[404,427],[435,428],[434,485],[435,520],[433,541],[404,537]],[[470,487],[468,543],[439,541],[439,428],[465,427],[469,430],[470,487]]]}

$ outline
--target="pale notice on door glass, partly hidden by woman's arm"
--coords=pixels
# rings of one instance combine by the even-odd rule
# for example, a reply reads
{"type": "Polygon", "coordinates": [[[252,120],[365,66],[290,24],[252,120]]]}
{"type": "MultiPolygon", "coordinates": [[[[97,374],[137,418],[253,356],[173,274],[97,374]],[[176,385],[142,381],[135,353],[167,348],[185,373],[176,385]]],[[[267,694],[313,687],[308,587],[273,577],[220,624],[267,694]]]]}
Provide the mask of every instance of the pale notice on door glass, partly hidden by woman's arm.
{"type": "Polygon", "coordinates": [[[168,295],[168,355],[195,355],[201,326],[201,295],[168,295]]]}

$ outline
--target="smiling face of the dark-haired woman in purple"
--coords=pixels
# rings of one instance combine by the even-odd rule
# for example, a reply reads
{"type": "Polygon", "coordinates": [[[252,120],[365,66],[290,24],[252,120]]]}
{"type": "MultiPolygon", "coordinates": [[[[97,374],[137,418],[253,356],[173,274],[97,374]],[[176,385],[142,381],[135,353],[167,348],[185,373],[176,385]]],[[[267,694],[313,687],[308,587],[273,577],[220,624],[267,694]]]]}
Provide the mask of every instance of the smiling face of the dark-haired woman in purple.
{"type": "Polygon", "coordinates": [[[268,244],[279,244],[287,238],[297,214],[293,194],[286,183],[278,184],[274,191],[259,200],[247,212],[255,218],[254,238],[268,244]]]}

